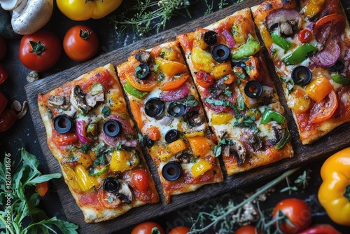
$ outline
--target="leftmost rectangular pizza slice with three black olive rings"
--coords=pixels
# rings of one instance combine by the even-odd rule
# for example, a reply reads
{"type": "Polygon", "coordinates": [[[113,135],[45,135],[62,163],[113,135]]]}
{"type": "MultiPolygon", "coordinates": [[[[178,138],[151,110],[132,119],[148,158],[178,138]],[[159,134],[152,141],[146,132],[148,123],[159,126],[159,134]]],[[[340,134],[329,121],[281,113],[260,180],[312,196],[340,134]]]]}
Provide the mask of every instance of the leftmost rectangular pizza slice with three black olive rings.
{"type": "Polygon", "coordinates": [[[87,223],[159,196],[112,64],[38,95],[47,143],[87,223]]]}

